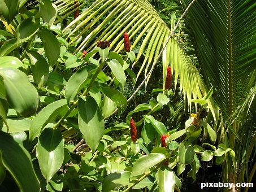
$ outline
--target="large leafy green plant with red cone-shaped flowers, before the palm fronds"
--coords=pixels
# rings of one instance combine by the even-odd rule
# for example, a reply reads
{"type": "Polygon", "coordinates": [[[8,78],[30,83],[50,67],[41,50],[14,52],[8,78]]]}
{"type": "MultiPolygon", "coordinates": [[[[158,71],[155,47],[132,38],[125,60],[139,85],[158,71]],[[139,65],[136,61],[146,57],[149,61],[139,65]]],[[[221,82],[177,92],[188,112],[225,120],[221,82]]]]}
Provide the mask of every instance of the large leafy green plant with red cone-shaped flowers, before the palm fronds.
{"type": "Polygon", "coordinates": [[[135,54],[128,47],[115,53],[109,41],[77,53],[79,41],[54,23],[58,9],[50,0],[40,1],[39,10],[28,10],[27,1],[0,2],[1,190],[15,184],[22,191],[179,191],[186,167],[196,181],[200,160],[216,156],[221,164],[234,156],[224,144],[214,146],[206,111],[212,90],[192,100],[201,107],[185,129],[167,130],[154,119],[164,106],[172,110],[171,68],[168,86],[153,90],[156,101],[138,104],[122,123],[106,127],[105,120],[115,112],[119,118],[131,100],[123,90],[127,78],[136,79],[135,54]],[[131,123],[137,112],[144,115],[131,123]],[[143,126],[140,138],[136,126],[143,126]]]}

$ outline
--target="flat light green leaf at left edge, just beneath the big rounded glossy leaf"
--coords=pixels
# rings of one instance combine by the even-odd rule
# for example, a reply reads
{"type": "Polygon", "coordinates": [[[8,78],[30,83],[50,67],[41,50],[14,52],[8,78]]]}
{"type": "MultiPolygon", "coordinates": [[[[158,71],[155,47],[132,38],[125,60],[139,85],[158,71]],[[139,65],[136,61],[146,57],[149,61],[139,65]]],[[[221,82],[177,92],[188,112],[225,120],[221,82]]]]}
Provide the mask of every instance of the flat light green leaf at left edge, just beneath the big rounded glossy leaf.
{"type": "MultiPolygon", "coordinates": [[[[29,126],[31,125],[32,120],[28,118],[20,117],[19,120],[17,118],[8,118],[7,125],[9,128],[8,133],[15,133],[15,132],[25,132],[29,130],[29,126]]],[[[3,125],[2,130],[4,132],[7,131],[6,125],[3,125]]]]}

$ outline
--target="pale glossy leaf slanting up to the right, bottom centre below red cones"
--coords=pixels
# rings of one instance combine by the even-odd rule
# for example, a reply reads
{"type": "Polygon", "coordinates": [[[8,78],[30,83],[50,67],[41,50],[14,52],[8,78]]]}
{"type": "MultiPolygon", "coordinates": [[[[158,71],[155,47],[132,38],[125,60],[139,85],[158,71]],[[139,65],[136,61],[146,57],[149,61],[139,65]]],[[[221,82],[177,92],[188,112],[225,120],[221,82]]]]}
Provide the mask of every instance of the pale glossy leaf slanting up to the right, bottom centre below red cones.
{"type": "Polygon", "coordinates": [[[147,171],[147,169],[153,167],[155,164],[162,162],[166,159],[163,154],[147,154],[138,158],[138,160],[133,164],[132,173],[130,177],[138,176],[147,171]]]}

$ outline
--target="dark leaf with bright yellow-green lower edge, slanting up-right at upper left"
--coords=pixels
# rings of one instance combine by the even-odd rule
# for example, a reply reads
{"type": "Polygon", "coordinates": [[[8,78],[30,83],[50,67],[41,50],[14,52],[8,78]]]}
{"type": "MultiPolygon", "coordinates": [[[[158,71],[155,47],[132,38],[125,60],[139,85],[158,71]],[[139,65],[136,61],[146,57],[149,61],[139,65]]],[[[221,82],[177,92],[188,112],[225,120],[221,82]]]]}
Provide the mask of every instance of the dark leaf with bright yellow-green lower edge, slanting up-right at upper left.
{"type": "Polygon", "coordinates": [[[40,26],[40,19],[35,19],[34,16],[22,21],[18,25],[16,30],[17,45],[31,38],[37,32],[39,26],[40,26]]]}

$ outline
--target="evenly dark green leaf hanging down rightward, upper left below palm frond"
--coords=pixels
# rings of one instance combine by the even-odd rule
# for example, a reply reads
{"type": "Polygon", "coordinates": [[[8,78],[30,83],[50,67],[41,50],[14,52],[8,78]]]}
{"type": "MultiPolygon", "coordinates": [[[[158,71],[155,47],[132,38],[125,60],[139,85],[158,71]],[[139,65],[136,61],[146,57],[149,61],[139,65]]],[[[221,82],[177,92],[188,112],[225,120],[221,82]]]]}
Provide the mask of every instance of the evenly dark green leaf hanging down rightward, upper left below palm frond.
{"type": "MultiPolygon", "coordinates": [[[[47,0],[50,1],[50,0],[47,0]]],[[[54,36],[49,29],[40,27],[38,36],[42,40],[44,46],[45,55],[49,59],[49,63],[54,65],[59,59],[60,46],[58,39],[54,36]]]]}

